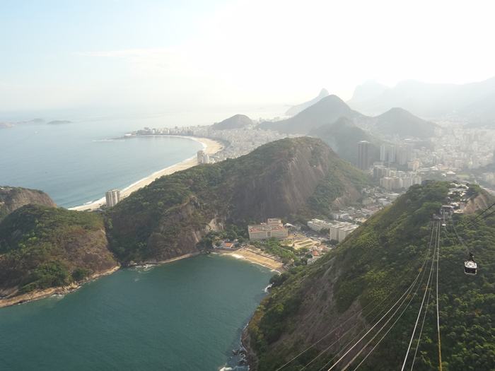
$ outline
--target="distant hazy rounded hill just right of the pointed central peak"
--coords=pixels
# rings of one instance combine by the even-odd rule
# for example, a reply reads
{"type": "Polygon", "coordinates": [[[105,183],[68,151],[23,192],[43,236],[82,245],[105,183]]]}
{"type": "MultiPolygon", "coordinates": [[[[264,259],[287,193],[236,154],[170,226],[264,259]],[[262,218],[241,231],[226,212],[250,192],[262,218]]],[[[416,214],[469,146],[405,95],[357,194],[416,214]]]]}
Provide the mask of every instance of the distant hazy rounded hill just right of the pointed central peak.
{"type": "Polygon", "coordinates": [[[435,134],[437,124],[420,119],[402,108],[391,108],[387,112],[373,117],[374,129],[383,135],[414,136],[430,138],[435,134]]]}

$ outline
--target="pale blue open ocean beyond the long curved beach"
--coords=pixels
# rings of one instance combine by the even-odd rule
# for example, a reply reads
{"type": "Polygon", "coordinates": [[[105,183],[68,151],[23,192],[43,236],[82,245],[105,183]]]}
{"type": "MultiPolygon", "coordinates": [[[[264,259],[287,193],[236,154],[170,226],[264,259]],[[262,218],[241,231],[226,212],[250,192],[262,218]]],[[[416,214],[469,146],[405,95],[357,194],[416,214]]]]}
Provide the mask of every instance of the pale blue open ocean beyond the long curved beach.
{"type": "Polygon", "coordinates": [[[59,206],[78,206],[190,158],[202,148],[197,141],[170,137],[109,140],[147,123],[81,120],[0,129],[0,185],[41,189],[59,206]]]}

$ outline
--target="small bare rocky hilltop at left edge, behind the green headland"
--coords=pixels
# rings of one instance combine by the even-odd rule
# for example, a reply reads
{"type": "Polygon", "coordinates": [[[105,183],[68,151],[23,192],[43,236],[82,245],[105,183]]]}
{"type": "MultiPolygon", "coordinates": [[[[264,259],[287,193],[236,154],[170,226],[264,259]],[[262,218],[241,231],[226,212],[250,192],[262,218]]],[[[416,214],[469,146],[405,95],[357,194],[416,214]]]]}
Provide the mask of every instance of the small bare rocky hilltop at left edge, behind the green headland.
{"type": "Polygon", "coordinates": [[[0,187],[0,220],[8,213],[28,204],[57,206],[50,196],[36,189],[0,187]]]}

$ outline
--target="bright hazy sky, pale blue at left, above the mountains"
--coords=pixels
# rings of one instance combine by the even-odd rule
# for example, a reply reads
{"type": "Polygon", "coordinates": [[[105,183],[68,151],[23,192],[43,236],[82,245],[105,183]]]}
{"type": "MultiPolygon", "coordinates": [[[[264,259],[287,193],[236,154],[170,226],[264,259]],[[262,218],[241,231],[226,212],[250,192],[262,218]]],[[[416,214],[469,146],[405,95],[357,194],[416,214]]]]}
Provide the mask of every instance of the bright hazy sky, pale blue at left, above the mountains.
{"type": "Polygon", "coordinates": [[[0,0],[0,111],[292,104],[495,76],[494,1],[0,0]]]}

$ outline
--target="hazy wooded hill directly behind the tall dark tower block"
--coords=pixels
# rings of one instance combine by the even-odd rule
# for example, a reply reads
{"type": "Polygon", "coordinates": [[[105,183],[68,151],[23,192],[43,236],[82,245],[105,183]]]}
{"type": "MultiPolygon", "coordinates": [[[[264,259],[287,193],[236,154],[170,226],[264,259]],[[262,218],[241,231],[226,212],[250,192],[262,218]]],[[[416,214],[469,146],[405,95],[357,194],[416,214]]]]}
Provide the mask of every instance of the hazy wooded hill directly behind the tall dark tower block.
{"type": "Polygon", "coordinates": [[[352,164],[357,164],[358,162],[357,143],[359,141],[369,141],[371,143],[371,163],[380,160],[381,142],[346,117],[341,117],[332,124],[322,125],[317,129],[313,129],[309,135],[325,141],[340,158],[352,164]]]}

